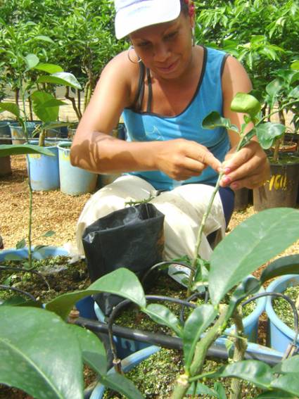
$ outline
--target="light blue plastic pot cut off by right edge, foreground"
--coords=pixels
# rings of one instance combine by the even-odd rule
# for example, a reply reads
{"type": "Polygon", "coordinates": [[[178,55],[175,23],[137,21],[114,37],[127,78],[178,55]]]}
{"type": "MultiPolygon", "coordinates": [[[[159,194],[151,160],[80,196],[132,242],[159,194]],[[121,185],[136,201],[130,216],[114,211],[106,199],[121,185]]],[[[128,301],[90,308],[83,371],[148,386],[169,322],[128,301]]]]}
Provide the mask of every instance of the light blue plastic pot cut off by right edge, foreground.
{"type": "MultiPolygon", "coordinates": [[[[288,274],[274,279],[267,287],[267,292],[283,293],[288,287],[297,286],[298,284],[298,274],[288,274]]],[[[284,353],[288,344],[293,341],[295,332],[276,315],[272,306],[272,300],[271,296],[267,297],[266,313],[268,316],[269,346],[284,353]]],[[[297,346],[299,348],[299,339],[297,339],[297,346]]]]}

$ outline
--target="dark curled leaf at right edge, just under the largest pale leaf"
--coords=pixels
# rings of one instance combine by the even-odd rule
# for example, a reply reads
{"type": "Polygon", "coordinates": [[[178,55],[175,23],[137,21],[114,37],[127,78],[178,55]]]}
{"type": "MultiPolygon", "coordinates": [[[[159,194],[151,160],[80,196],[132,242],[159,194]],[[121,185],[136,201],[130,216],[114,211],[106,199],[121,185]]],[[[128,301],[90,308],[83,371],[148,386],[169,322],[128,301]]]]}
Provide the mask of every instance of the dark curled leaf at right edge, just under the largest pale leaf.
{"type": "Polygon", "coordinates": [[[285,274],[299,274],[299,255],[283,256],[267,265],[260,276],[260,283],[285,274]]]}

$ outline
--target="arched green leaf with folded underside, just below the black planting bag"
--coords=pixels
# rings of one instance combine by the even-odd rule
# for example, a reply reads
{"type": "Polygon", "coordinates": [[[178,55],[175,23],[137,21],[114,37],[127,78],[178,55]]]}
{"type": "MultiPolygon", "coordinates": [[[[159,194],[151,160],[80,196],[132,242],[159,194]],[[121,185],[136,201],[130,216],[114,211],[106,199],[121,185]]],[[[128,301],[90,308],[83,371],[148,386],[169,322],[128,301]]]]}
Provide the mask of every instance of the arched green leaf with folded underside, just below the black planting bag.
{"type": "Polygon", "coordinates": [[[139,305],[140,308],[146,307],[144,289],[139,279],[137,279],[136,275],[130,270],[120,268],[94,281],[94,283],[84,291],[65,293],[54,298],[46,304],[46,309],[66,319],[77,300],[100,292],[114,293],[115,295],[132,300],[132,302],[139,305]]]}

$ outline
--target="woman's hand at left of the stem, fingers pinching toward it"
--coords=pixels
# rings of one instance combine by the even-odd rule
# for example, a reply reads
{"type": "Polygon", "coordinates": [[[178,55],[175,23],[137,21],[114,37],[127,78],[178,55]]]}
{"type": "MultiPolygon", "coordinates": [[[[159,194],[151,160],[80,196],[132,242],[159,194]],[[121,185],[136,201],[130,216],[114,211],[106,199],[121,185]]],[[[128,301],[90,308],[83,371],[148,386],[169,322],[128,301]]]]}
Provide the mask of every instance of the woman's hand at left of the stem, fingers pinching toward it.
{"type": "Polygon", "coordinates": [[[156,168],[174,180],[186,180],[201,175],[208,166],[220,172],[220,160],[217,160],[208,148],[196,141],[186,139],[160,141],[157,149],[154,154],[156,168]]]}

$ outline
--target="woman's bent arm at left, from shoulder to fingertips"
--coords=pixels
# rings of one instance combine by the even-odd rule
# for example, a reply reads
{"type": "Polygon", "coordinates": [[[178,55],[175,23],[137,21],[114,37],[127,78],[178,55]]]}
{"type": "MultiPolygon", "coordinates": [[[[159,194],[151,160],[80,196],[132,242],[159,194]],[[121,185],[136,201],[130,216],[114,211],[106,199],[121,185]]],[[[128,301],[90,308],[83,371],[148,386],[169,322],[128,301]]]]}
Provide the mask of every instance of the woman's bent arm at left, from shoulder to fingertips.
{"type": "Polygon", "coordinates": [[[207,148],[185,139],[126,142],[109,134],[125,107],[132,104],[138,82],[139,65],[127,54],[113,58],[101,74],[91,101],[79,122],[70,159],[72,165],[91,172],[130,172],[161,170],[172,179],[199,175],[207,165],[220,169],[207,148]]]}

